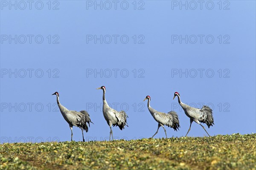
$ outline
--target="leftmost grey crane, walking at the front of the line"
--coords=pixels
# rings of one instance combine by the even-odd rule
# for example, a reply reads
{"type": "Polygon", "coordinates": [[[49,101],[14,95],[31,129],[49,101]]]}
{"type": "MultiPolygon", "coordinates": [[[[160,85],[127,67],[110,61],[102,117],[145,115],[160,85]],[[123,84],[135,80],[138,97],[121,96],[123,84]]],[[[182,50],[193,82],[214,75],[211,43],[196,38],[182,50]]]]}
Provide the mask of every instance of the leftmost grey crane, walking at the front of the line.
{"type": "Polygon", "coordinates": [[[56,95],[57,96],[57,103],[58,103],[58,107],[61,111],[62,116],[64,117],[64,119],[67,121],[67,123],[70,126],[70,130],[71,130],[71,141],[73,140],[73,126],[79,127],[82,130],[82,135],[83,135],[83,141],[84,140],[84,132],[83,130],[85,130],[86,132],[88,132],[88,126],[90,127],[90,115],[87,113],[87,111],[70,111],[67,108],[65,108],[63,105],[60,104],[59,102],[59,94],[58,92],[55,92],[52,95],[56,95]]]}

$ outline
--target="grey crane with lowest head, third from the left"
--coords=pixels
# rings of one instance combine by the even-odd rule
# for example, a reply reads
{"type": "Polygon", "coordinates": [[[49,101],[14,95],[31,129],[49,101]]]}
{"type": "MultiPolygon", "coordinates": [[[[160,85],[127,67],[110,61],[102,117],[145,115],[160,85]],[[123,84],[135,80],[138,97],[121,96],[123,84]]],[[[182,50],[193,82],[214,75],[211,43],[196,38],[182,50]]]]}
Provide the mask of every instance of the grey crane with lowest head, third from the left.
{"type": "MultiPolygon", "coordinates": [[[[166,129],[164,128],[164,125],[171,127],[176,131],[177,131],[177,129],[179,129],[179,127],[180,127],[179,118],[175,111],[170,111],[167,114],[163,113],[163,112],[156,111],[153,108],[151,108],[151,106],[150,106],[150,100],[151,100],[150,96],[146,96],[144,101],[146,99],[148,99],[148,111],[151,113],[151,115],[153,116],[155,121],[158,122],[157,132],[151,138],[153,138],[158,133],[158,129],[160,126],[163,127],[165,134],[166,134],[166,129]]],[[[167,138],[167,134],[166,134],[166,138],[167,138]]]]}

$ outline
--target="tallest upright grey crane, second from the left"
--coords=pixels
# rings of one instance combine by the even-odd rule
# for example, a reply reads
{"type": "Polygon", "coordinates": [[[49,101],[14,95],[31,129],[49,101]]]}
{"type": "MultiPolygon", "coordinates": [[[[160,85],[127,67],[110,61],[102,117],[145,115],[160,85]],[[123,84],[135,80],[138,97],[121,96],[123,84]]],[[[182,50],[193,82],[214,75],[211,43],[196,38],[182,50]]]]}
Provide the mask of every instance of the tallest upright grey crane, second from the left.
{"type": "Polygon", "coordinates": [[[105,120],[107,121],[109,127],[110,127],[110,135],[109,140],[111,140],[111,135],[113,139],[113,132],[112,132],[112,125],[118,126],[120,130],[125,128],[125,125],[127,125],[127,114],[125,111],[116,111],[113,108],[109,107],[108,102],[105,99],[105,92],[106,88],[104,86],[97,88],[103,90],[103,116],[105,120]]]}

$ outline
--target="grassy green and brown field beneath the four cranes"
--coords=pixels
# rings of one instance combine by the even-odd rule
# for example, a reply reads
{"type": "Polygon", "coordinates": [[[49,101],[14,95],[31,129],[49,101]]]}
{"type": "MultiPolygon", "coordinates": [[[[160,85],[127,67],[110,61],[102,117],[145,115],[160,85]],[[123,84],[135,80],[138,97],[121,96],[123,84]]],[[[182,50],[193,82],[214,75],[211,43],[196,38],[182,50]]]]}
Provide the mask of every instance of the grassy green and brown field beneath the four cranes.
{"type": "Polygon", "coordinates": [[[256,134],[0,145],[0,169],[256,170],[256,134]]]}

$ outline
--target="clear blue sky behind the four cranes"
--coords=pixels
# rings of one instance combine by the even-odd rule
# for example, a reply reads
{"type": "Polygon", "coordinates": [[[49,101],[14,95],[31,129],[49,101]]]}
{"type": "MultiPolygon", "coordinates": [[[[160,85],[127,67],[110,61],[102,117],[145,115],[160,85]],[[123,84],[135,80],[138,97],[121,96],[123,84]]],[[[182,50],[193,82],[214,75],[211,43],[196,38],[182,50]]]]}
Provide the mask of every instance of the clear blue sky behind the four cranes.
{"type": "MultiPolygon", "coordinates": [[[[152,108],[179,116],[180,130],[166,127],[167,136],[185,136],[175,91],[213,109],[210,135],[256,133],[255,1],[9,2],[0,1],[1,143],[70,141],[55,91],[66,108],[89,112],[87,141],[108,138],[102,85],[129,116],[129,127],[112,128],[116,139],[155,133],[147,95],[152,108]]],[[[188,134],[206,135],[195,122],[188,134]]],[[[82,140],[77,127],[73,139],[82,140]]]]}

